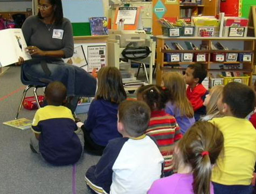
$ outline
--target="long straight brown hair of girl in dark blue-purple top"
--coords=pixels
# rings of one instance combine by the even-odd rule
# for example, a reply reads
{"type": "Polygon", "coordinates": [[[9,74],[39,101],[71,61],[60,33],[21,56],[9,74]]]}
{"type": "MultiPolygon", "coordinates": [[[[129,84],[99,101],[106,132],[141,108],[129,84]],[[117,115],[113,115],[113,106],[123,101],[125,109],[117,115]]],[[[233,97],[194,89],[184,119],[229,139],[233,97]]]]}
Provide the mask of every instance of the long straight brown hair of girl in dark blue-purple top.
{"type": "Polygon", "coordinates": [[[116,67],[102,67],[98,72],[95,99],[104,99],[117,104],[126,99],[121,73],[116,67]]]}

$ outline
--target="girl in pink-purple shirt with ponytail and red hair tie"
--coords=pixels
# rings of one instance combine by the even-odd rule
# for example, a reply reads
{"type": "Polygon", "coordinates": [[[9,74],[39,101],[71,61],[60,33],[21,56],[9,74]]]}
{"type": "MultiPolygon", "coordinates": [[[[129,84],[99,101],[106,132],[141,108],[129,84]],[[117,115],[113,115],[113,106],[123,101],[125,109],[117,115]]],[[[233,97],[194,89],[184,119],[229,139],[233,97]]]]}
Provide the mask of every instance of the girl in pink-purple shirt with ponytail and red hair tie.
{"type": "Polygon", "coordinates": [[[224,147],[222,132],[206,121],[195,123],[174,151],[177,174],[153,183],[148,194],[213,194],[212,166],[224,147]]]}

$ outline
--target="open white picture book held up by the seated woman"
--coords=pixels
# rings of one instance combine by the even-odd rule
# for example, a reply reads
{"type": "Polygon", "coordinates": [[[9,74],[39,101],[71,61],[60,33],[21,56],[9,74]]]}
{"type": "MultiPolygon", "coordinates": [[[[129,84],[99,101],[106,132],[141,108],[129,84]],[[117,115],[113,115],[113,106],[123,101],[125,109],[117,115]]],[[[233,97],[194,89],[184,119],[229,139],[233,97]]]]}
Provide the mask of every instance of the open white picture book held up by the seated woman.
{"type": "Polygon", "coordinates": [[[8,66],[19,61],[19,57],[29,60],[26,52],[26,41],[22,29],[5,29],[0,31],[0,67],[8,66]]]}

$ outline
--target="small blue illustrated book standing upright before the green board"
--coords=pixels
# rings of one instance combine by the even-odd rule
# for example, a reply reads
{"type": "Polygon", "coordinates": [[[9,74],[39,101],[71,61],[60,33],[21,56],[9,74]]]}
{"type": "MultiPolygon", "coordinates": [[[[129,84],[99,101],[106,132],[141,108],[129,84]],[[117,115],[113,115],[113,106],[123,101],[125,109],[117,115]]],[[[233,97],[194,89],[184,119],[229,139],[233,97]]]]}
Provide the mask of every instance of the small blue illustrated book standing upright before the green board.
{"type": "Polygon", "coordinates": [[[106,17],[90,17],[89,23],[92,35],[108,34],[108,22],[106,17]]]}

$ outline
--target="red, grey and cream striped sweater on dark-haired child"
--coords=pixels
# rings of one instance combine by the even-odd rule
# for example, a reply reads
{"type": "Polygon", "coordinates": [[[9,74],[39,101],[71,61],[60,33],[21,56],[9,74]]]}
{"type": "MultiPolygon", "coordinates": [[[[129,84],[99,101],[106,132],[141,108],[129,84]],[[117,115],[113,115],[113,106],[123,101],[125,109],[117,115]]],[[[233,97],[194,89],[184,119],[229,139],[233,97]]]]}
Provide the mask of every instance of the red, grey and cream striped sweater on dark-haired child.
{"type": "Polygon", "coordinates": [[[174,143],[182,137],[175,117],[166,113],[165,110],[151,112],[146,134],[156,138],[161,154],[164,157],[164,172],[171,171],[174,143]]]}

